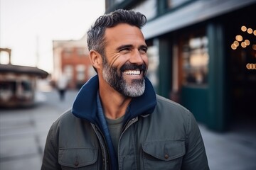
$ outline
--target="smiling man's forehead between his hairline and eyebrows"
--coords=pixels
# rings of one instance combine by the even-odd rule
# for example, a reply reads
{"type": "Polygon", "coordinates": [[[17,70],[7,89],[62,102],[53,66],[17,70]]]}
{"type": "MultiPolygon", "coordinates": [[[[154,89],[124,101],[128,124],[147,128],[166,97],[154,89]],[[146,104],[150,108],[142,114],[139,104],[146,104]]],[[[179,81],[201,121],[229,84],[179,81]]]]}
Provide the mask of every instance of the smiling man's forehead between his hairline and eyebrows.
{"type": "Polygon", "coordinates": [[[119,23],[117,26],[105,30],[107,45],[116,44],[139,44],[145,45],[144,35],[136,26],[127,23],[119,23]]]}

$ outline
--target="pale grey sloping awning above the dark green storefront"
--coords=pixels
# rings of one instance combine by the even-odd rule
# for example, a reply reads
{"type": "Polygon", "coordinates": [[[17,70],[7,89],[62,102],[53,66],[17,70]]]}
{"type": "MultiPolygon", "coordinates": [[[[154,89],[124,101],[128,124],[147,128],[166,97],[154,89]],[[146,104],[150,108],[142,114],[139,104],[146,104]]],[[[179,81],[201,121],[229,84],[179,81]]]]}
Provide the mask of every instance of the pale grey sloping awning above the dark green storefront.
{"type": "Polygon", "coordinates": [[[187,6],[148,21],[146,26],[142,28],[142,32],[147,40],[255,3],[256,0],[191,1],[187,6]]]}

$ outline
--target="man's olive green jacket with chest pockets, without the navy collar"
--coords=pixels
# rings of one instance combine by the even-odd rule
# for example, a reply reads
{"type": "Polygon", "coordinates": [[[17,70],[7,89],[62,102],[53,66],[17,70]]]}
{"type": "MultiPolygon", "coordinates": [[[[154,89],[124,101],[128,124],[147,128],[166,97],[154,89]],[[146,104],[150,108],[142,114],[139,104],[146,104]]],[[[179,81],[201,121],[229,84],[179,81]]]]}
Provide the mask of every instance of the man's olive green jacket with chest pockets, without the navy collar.
{"type": "MultiPolygon", "coordinates": [[[[97,122],[73,112],[65,112],[51,126],[41,169],[110,169],[110,154],[97,122]]],[[[156,96],[153,113],[127,120],[117,157],[119,169],[209,169],[195,118],[161,96],[156,96]]]]}

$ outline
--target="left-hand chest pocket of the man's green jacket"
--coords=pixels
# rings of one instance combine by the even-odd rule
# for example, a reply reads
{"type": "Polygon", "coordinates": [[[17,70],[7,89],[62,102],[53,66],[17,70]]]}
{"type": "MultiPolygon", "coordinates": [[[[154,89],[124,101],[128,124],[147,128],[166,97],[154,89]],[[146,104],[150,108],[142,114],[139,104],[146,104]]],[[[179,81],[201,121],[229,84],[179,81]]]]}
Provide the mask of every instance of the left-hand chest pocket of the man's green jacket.
{"type": "Polygon", "coordinates": [[[62,169],[98,169],[97,148],[59,149],[58,162],[62,169]]]}

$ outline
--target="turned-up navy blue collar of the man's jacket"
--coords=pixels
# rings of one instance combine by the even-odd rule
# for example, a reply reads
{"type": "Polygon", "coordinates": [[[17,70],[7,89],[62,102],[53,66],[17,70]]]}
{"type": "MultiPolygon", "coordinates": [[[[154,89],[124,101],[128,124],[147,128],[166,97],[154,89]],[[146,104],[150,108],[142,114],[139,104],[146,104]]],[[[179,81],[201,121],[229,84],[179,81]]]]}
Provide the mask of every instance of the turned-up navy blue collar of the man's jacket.
{"type": "MultiPolygon", "coordinates": [[[[72,113],[91,123],[98,123],[97,120],[97,91],[99,89],[98,76],[92,77],[82,86],[73,103],[72,113]]],[[[142,96],[132,98],[129,111],[124,116],[124,121],[137,117],[138,115],[148,115],[154,111],[156,106],[156,94],[154,88],[145,78],[145,91],[142,96]]]]}

